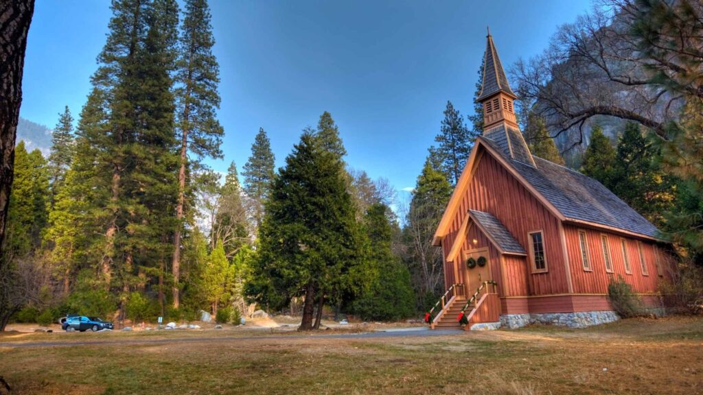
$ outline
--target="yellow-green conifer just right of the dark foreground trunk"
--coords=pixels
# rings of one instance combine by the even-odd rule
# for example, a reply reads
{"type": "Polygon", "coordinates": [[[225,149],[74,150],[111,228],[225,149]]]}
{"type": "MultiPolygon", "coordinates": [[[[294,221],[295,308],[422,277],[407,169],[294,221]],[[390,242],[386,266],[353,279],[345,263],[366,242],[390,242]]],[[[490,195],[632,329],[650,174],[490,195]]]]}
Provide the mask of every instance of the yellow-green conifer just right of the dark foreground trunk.
{"type": "Polygon", "coordinates": [[[10,195],[6,246],[15,256],[41,245],[49,206],[49,169],[39,150],[27,153],[25,142],[15,147],[15,176],[10,195]]]}

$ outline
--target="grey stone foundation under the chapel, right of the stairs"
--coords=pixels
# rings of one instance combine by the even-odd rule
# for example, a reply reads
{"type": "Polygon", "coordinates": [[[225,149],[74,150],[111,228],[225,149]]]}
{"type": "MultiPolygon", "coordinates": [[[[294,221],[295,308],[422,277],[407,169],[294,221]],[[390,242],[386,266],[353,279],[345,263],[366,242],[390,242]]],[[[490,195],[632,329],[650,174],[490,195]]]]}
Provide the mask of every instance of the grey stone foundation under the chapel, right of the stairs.
{"type": "Polygon", "coordinates": [[[617,314],[610,310],[579,311],[577,313],[504,314],[501,316],[501,325],[510,329],[522,328],[534,323],[586,328],[592,325],[612,323],[619,319],[617,314]]]}

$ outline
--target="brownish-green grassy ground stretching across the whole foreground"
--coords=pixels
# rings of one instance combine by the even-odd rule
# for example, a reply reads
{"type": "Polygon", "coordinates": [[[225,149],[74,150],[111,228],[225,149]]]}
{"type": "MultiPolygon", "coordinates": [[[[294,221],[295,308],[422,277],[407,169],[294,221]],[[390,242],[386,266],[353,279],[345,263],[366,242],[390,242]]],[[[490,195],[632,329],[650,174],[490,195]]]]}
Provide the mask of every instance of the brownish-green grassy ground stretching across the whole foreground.
{"type": "Polygon", "coordinates": [[[89,344],[101,334],[56,335],[0,337],[0,375],[14,387],[13,393],[703,393],[703,318],[632,319],[585,330],[539,326],[433,337],[329,338],[208,330],[115,332],[106,335],[115,341],[172,341],[89,344]],[[207,341],[198,342],[197,336],[207,341]],[[87,344],[22,348],[9,344],[71,344],[79,337],[87,344]],[[221,337],[221,342],[212,337],[221,337]],[[188,342],[179,342],[186,338],[188,342]]]}

